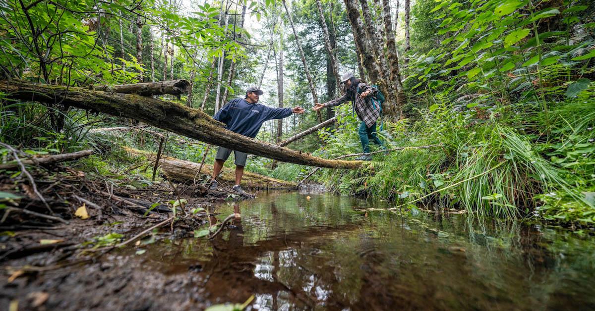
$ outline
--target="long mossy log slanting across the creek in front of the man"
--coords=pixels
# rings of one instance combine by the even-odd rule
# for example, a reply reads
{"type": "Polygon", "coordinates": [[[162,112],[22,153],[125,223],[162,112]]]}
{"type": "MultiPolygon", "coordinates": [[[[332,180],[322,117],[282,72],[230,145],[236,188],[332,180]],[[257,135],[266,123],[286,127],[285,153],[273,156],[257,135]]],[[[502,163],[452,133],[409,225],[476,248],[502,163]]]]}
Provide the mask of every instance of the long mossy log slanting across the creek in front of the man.
{"type": "Polygon", "coordinates": [[[19,80],[0,81],[0,90],[8,98],[41,103],[61,103],[89,111],[98,111],[116,117],[132,118],[192,139],[215,144],[281,162],[325,168],[354,169],[361,161],[333,161],[308,153],[260,142],[226,130],[199,109],[179,103],[143,97],[134,94],[109,93],[80,87],[34,84],[19,80]]]}

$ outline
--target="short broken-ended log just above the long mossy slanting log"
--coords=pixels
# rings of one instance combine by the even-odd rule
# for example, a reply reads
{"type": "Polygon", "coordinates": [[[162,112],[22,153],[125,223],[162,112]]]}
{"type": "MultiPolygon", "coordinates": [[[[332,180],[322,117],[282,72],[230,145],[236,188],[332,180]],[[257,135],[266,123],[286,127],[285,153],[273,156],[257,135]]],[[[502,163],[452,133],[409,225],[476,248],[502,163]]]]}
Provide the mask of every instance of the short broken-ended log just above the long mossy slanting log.
{"type": "Polygon", "coordinates": [[[114,86],[96,86],[95,90],[112,93],[137,94],[142,96],[154,95],[180,95],[190,90],[187,80],[168,80],[159,82],[146,82],[134,84],[118,84],[114,86]]]}

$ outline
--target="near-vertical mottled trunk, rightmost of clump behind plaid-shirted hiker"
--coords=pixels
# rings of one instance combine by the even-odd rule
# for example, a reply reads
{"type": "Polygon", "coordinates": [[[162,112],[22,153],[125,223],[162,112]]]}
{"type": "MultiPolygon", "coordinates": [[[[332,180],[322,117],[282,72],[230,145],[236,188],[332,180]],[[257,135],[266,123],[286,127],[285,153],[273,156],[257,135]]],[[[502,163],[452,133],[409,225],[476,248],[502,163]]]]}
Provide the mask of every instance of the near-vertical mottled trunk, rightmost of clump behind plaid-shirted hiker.
{"type": "Polygon", "coordinates": [[[390,0],[382,0],[383,1],[383,18],[384,18],[384,27],[385,32],[387,34],[386,37],[386,51],[389,55],[389,62],[390,62],[390,82],[393,84],[393,88],[396,95],[396,107],[394,107],[394,111],[396,111],[401,117],[403,112],[403,105],[405,104],[405,93],[403,92],[403,85],[401,84],[401,74],[399,71],[399,56],[397,55],[397,47],[394,43],[394,36],[391,34],[393,33],[393,23],[392,19],[390,18],[390,0]]]}

